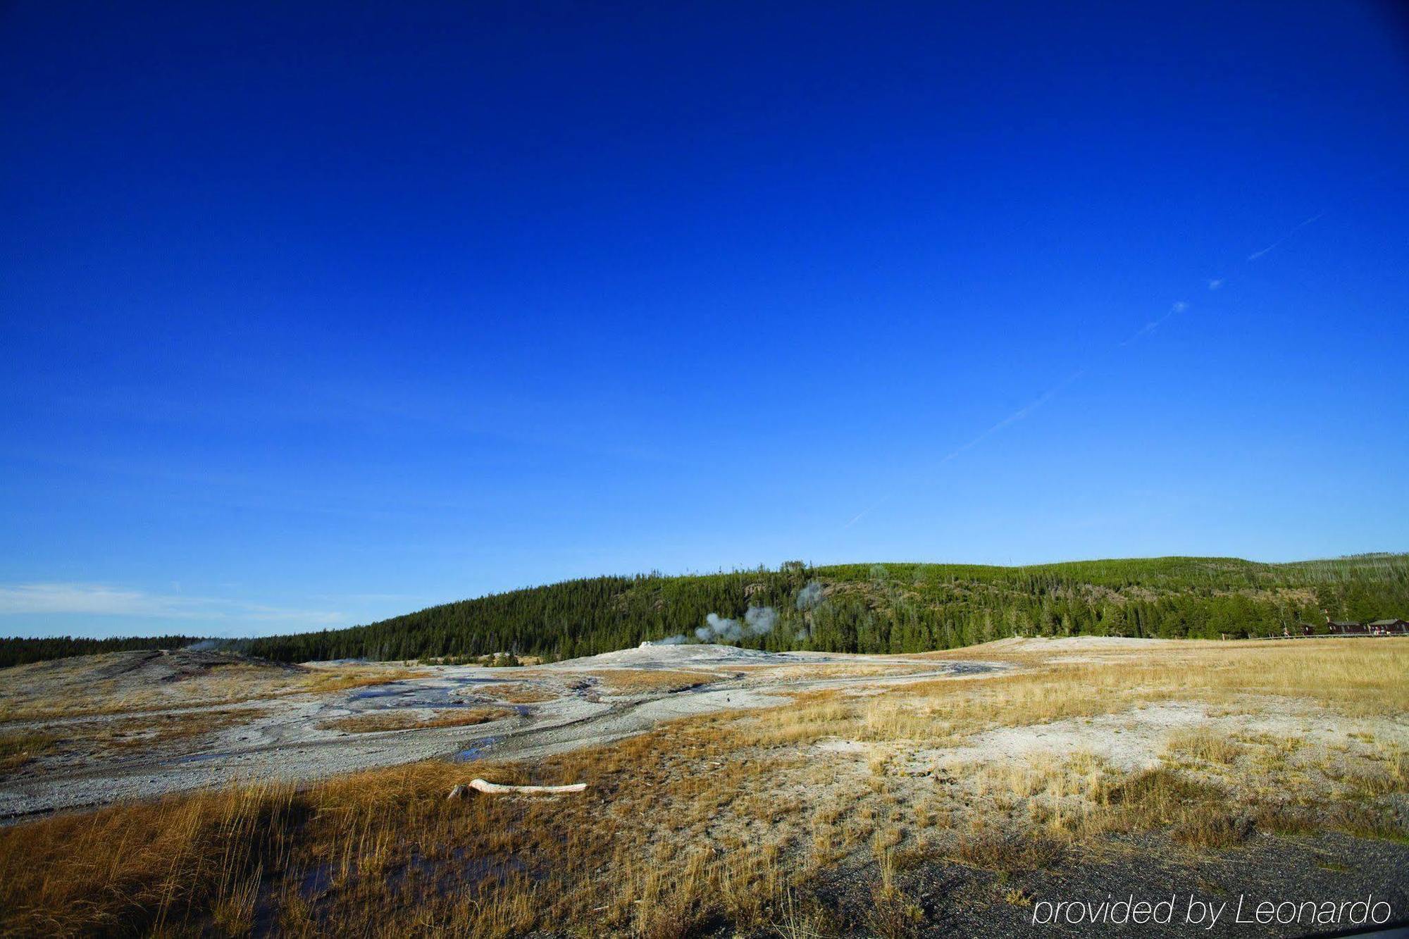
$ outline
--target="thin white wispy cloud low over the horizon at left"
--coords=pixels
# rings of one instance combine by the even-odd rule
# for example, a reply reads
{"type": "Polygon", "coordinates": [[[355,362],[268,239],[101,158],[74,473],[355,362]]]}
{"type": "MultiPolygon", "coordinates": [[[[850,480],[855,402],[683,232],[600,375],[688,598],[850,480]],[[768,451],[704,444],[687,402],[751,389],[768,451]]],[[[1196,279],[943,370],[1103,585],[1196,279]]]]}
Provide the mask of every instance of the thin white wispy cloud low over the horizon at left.
{"type": "Polygon", "coordinates": [[[8,584],[0,585],[0,616],[59,615],[145,616],[211,623],[287,623],[330,626],[345,618],[331,610],[285,609],[214,596],[151,594],[106,584],[8,584]]]}

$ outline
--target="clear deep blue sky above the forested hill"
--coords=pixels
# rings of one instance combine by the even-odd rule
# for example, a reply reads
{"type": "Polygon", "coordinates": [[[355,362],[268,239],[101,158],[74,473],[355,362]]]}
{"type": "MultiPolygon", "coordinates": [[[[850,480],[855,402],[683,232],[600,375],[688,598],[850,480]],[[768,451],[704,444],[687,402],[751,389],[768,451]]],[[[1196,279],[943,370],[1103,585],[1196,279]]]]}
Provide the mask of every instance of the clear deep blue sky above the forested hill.
{"type": "Polygon", "coordinates": [[[1409,548],[1391,6],[344,7],[0,13],[0,634],[1409,548]]]}

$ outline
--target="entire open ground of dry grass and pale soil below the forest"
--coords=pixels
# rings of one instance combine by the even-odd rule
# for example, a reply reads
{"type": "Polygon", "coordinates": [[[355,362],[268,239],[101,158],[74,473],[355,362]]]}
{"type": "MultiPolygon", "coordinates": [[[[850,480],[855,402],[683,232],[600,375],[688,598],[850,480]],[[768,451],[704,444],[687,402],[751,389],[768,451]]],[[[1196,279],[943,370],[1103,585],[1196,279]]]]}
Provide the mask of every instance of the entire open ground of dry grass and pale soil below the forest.
{"type": "Polygon", "coordinates": [[[1133,935],[1043,922],[1129,894],[1178,898],[1141,935],[1346,929],[1227,921],[1409,915],[1406,706],[1399,639],[46,663],[0,684],[0,932],[1133,935]],[[588,791],[447,801],[475,775],[588,791]]]}

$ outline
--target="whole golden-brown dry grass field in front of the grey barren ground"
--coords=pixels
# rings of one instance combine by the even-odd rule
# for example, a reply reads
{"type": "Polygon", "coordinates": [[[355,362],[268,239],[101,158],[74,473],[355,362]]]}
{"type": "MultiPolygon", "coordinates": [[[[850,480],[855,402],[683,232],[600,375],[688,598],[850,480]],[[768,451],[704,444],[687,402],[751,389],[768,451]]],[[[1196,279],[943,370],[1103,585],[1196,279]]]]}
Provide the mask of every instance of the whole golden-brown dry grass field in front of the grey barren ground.
{"type": "Polygon", "coordinates": [[[1233,890],[1270,850],[1313,852],[1316,877],[1361,850],[1409,859],[1409,642],[936,657],[1022,668],[799,694],[533,763],[14,825],[0,932],[943,935],[1026,922],[1044,884],[1088,869],[1140,884],[1158,863],[1233,890]],[[588,791],[447,801],[472,775],[588,791]]]}

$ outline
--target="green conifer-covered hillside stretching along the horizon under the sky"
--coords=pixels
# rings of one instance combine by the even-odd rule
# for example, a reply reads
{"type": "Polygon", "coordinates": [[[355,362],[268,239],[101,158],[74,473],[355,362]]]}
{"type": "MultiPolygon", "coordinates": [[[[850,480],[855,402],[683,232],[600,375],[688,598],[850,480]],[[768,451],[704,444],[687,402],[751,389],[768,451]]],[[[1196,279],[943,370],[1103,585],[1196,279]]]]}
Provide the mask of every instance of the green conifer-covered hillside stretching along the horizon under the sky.
{"type": "MultiPolygon", "coordinates": [[[[1298,622],[1320,626],[1327,613],[1409,618],[1409,556],[1295,564],[1192,557],[1036,567],[789,563],[730,574],[596,577],[431,606],[366,626],[231,644],[282,661],[500,651],[571,658],[647,639],[695,642],[710,613],[723,618],[714,620],[716,634],[733,622],[723,642],[772,650],[923,651],[1013,634],[1217,639],[1281,632],[1298,622]]],[[[183,642],[11,639],[0,640],[0,663],[183,642]]]]}

